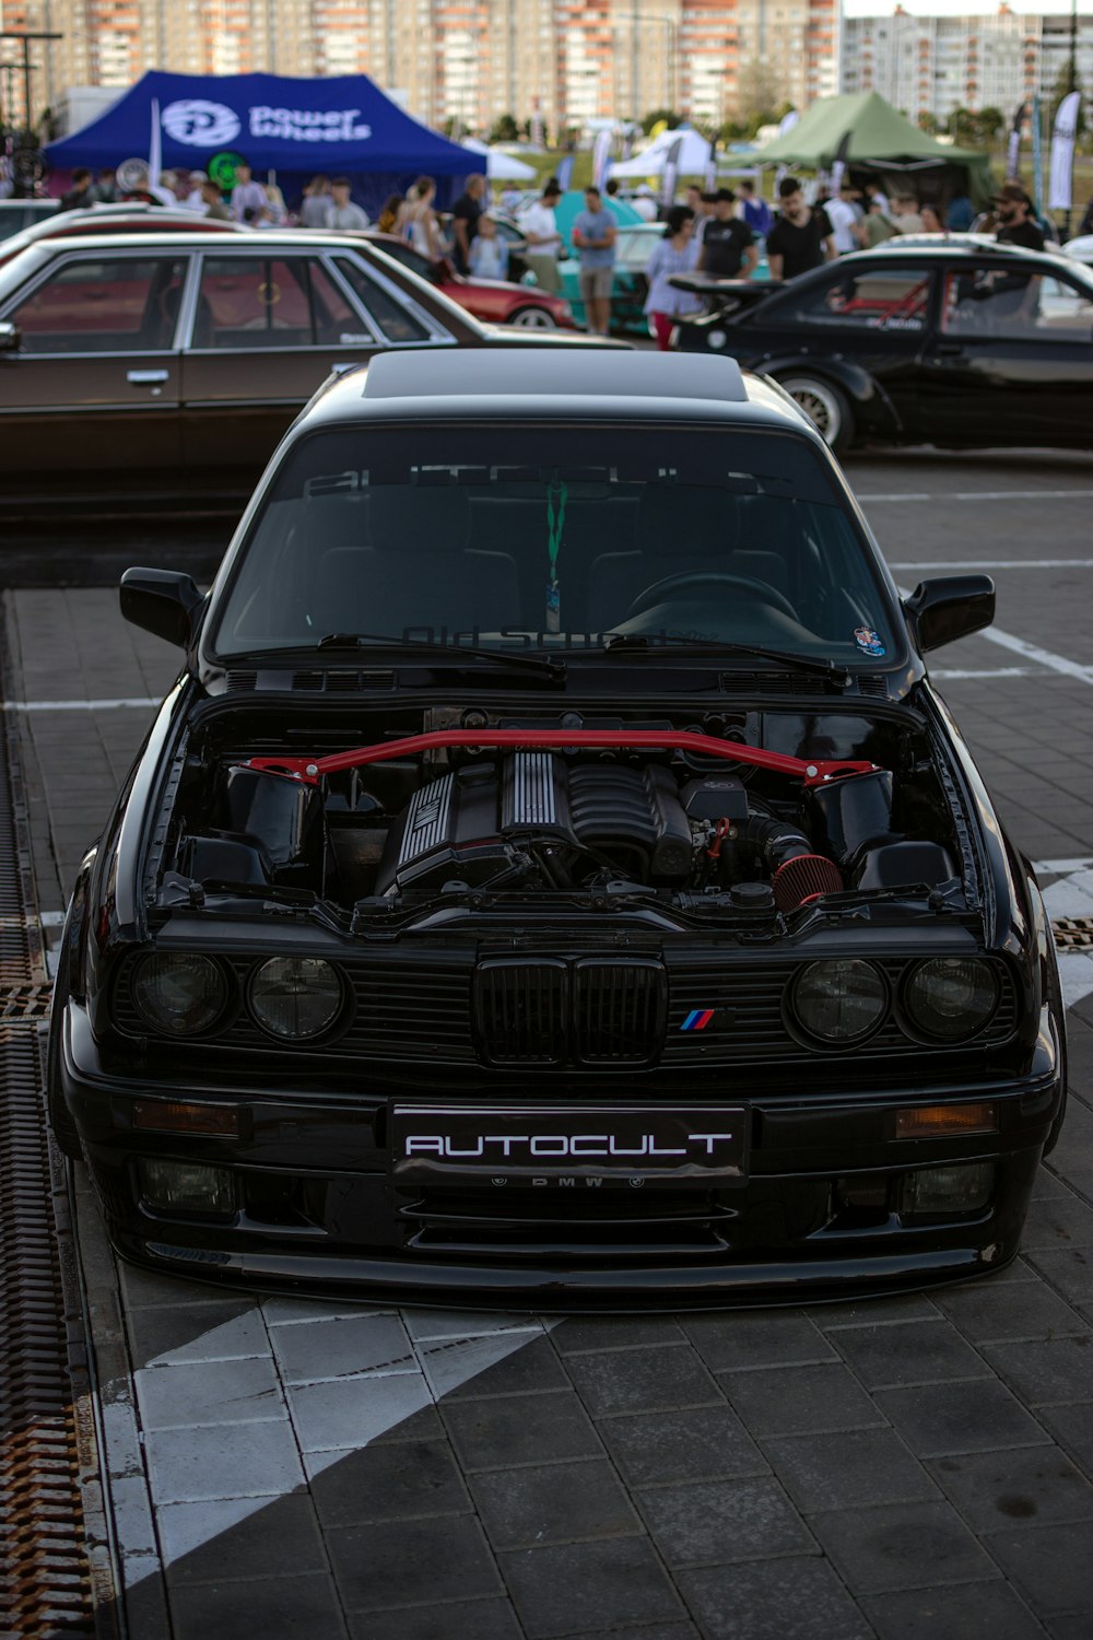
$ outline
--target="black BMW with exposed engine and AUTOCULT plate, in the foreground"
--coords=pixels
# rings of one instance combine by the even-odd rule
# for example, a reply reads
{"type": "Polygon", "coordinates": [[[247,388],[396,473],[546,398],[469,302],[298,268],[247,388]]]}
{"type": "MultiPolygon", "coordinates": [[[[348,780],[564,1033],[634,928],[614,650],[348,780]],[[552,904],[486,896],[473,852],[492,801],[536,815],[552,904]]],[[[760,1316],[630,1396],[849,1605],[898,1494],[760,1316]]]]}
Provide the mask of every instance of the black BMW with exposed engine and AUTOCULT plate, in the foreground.
{"type": "Polygon", "coordinates": [[[72,897],[49,1109],[215,1281],[788,1302],[1000,1269],[1032,872],[823,440],[724,359],[401,354],[293,425],[72,897]]]}

